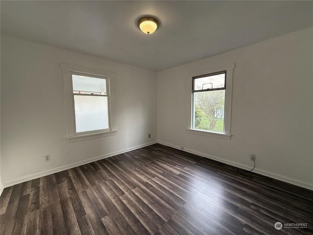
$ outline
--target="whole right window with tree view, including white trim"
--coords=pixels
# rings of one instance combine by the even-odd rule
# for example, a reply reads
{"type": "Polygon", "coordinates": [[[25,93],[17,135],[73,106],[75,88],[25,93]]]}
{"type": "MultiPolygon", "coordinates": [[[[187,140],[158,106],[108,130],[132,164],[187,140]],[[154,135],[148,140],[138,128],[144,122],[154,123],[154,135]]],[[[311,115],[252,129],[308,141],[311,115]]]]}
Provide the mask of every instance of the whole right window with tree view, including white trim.
{"type": "Polygon", "coordinates": [[[188,132],[230,140],[234,64],[194,72],[188,132]]]}

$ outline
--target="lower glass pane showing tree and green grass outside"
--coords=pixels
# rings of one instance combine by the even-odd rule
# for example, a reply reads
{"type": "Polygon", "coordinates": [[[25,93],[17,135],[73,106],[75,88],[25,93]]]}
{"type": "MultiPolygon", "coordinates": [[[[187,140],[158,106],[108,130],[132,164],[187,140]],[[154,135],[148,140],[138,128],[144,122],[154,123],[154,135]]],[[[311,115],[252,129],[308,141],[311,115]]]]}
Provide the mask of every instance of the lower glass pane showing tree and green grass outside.
{"type": "Polygon", "coordinates": [[[225,90],[195,92],[193,128],[223,133],[224,110],[225,90]]]}

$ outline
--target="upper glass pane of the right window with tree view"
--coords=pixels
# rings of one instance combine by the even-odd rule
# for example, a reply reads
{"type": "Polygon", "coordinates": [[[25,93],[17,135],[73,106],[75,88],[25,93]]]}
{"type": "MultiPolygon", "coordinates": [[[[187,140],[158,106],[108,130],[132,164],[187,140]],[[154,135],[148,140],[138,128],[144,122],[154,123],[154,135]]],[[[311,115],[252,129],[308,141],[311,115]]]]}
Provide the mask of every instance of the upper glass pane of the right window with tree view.
{"type": "Polygon", "coordinates": [[[194,91],[225,87],[225,73],[195,78],[194,80],[194,91]]]}

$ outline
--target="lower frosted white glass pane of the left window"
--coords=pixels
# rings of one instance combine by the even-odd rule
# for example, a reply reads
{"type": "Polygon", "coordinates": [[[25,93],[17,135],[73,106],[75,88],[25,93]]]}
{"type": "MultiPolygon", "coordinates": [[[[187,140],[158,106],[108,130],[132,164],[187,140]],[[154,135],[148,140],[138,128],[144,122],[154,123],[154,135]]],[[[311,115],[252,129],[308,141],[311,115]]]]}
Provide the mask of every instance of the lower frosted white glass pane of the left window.
{"type": "Polygon", "coordinates": [[[107,96],[74,95],[76,132],[109,128],[107,96]]]}

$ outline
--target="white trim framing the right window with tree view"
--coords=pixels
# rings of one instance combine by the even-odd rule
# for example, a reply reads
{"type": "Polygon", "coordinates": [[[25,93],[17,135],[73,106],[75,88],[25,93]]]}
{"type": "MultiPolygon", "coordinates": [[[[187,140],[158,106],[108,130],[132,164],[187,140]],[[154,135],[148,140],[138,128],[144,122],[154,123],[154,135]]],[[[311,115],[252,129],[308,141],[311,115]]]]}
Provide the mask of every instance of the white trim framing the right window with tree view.
{"type": "Polygon", "coordinates": [[[230,140],[230,124],[231,124],[231,102],[232,102],[232,87],[233,87],[233,69],[235,68],[235,63],[223,65],[219,67],[214,67],[201,71],[194,71],[189,73],[188,75],[188,107],[189,107],[189,115],[188,115],[188,124],[187,124],[187,132],[190,134],[197,134],[202,136],[220,138],[224,140],[230,140]],[[200,129],[192,128],[193,121],[193,101],[192,101],[192,79],[195,76],[200,76],[203,74],[209,74],[219,71],[226,71],[226,89],[225,89],[225,115],[224,115],[224,133],[206,131],[200,129]]]}

